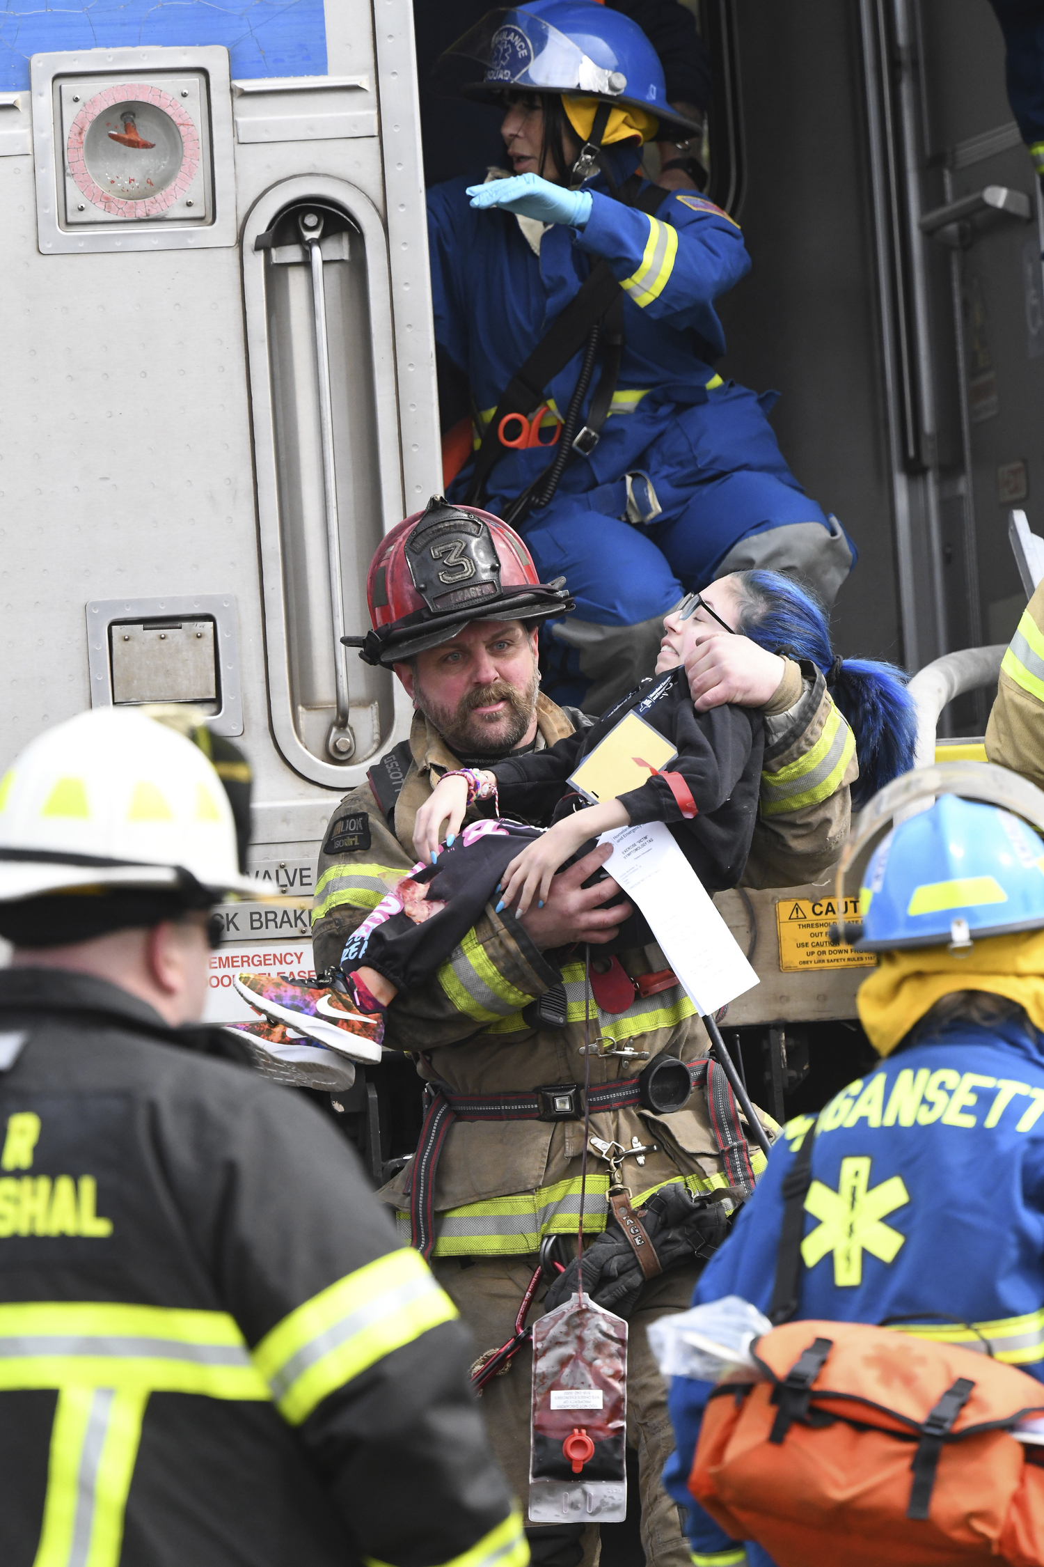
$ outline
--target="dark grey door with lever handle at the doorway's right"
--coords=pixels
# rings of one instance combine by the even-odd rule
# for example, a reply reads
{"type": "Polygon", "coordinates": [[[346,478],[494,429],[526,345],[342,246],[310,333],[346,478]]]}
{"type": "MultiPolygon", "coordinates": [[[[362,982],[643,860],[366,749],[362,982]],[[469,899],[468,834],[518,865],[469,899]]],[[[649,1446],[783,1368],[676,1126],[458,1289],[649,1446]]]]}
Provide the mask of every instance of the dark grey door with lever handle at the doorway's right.
{"type": "MultiPolygon", "coordinates": [[[[1044,219],[991,6],[861,13],[897,454],[927,494],[905,580],[900,550],[906,616],[934,632],[920,664],[1006,642],[1025,606],[1008,514],[1044,523],[1044,219]]],[[[981,733],[988,708],[986,693],[961,699],[949,727],[981,733]]]]}

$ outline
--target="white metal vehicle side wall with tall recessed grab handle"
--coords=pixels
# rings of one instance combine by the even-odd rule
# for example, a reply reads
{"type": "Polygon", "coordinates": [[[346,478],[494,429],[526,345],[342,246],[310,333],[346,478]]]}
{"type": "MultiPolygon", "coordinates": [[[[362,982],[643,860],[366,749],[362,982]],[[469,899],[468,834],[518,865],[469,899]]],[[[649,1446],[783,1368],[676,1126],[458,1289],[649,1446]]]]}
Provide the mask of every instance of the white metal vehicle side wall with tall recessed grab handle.
{"type": "MultiPolygon", "coordinates": [[[[250,758],[257,874],[307,896],[407,732],[338,638],[438,428],[410,3],[275,9],[0,20],[0,768],[88,705],[188,702],[250,758]]],[[[216,1015],[233,959],[310,968],[307,914],[268,914],[230,920],[216,1015]]]]}

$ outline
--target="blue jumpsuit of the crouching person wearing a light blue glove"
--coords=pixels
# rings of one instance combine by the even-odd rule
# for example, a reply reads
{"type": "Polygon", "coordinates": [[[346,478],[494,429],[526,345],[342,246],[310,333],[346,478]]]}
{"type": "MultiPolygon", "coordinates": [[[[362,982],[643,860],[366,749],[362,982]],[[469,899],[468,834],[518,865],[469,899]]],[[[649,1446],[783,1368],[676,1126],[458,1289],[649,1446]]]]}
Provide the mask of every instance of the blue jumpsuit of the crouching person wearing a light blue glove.
{"type": "MultiPolygon", "coordinates": [[[[635,157],[634,147],[603,150],[620,179],[635,157]]],[[[687,191],[664,193],[650,218],[609,196],[598,174],[585,185],[593,210],[584,230],[546,227],[537,255],[512,213],[471,208],[468,183],[429,191],[427,221],[435,335],[466,373],[479,414],[488,418],[598,257],[625,290],[614,412],[593,453],[578,454],[551,505],[523,523],[542,580],[563,575],[576,597],[570,621],[545,632],[545,655],[567,650],[545,689],[559,702],[582,700],[601,668],[626,658],[637,627],[654,652],[659,619],[682,591],[725,570],[790,566],[833,602],[855,547],[787,469],[765,417],[773,395],[722,384],[697,357],[700,348],[712,360],[725,353],[712,301],[750,270],[736,223],[687,191]],[[707,390],[707,382],[717,384],[707,390]],[[635,472],[650,476],[659,506],[648,525],[621,520],[626,475],[635,472]]],[[[557,409],[570,401],[579,364],[581,354],[546,389],[557,409]]],[[[502,512],[548,462],[546,450],[506,451],[482,505],[502,512]]],[[[470,473],[471,464],[451,498],[463,500],[470,473]]],[[[651,509],[645,486],[632,487],[651,509]]]]}

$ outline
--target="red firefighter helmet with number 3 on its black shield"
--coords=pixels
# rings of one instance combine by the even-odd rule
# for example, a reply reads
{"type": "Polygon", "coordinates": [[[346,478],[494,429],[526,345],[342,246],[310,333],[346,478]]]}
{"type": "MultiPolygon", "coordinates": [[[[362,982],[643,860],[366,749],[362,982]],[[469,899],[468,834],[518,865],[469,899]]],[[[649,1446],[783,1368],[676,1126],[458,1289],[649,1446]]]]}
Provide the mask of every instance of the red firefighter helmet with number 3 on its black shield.
{"type": "Polygon", "coordinates": [[[373,632],[341,641],[385,666],[448,642],[471,621],[543,621],[573,608],[565,578],[542,583],[513,528],[441,495],[380,542],[366,603],[373,632]]]}

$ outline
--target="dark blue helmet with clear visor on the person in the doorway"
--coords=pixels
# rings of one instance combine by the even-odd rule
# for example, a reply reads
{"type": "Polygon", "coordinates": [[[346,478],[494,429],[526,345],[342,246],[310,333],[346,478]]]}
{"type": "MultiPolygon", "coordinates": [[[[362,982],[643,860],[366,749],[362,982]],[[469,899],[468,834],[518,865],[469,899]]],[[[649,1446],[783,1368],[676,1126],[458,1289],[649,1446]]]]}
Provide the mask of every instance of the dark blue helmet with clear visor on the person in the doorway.
{"type": "Polygon", "coordinates": [[[499,100],[510,89],[581,92],[643,108],[692,135],[698,125],[667,103],[664,67],[637,22],[596,0],[532,0],[488,11],[446,55],[485,67],[466,97],[499,100]]]}

